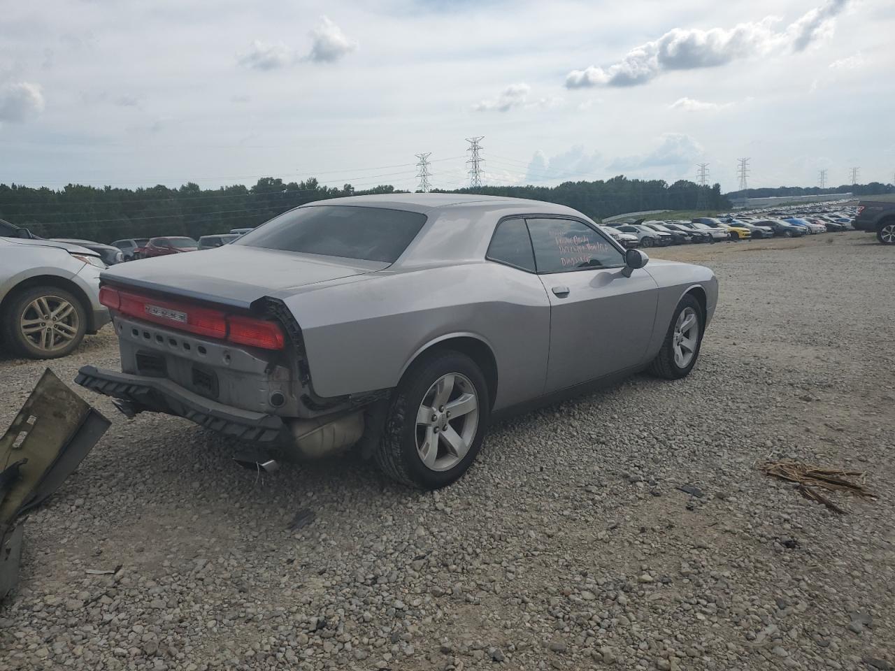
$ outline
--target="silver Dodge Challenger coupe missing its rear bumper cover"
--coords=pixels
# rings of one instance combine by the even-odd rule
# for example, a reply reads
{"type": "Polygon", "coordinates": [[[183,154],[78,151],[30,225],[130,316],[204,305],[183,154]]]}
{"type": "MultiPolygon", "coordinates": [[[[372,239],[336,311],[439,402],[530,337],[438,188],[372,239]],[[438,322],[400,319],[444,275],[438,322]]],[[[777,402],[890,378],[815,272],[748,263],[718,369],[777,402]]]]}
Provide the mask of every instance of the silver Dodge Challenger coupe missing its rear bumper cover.
{"type": "Polygon", "coordinates": [[[257,463],[355,447],[439,488],[499,416],[693,369],[718,282],[647,260],[536,200],[322,200],[214,250],[103,272],[123,370],[85,366],[77,382],[128,416],[247,441],[257,463]]]}

